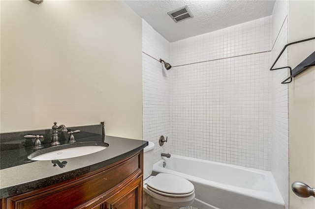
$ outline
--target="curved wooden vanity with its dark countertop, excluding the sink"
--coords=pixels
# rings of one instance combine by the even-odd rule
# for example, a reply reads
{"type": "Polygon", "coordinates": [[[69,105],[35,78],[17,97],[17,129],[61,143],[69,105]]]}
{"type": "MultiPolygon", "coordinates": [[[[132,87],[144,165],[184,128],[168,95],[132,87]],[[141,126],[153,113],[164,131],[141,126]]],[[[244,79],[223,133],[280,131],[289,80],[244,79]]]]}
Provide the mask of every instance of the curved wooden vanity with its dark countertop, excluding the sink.
{"type": "MultiPolygon", "coordinates": [[[[49,160],[28,161],[25,147],[1,150],[1,209],[141,209],[143,148],[148,142],[87,135],[77,140],[103,141],[109,146],[63,159],[63,168],[49,160]],[[12,162],[10,156],[15,156],[12,162]]],[[[1,143],[12,147],[12,140],[1,143]]]]}

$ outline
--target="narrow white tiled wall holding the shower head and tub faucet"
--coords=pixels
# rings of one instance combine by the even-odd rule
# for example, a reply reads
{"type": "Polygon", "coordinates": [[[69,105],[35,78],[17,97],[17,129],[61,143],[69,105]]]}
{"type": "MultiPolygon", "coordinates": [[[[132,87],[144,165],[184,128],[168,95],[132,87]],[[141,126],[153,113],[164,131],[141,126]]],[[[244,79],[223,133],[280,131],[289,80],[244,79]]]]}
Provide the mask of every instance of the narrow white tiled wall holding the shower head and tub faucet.
{"type": "Polygon", "coordinates": [[[170,44],[144,20],[142,22],[142,71],[143,71],[143,139],[155,143],[154,160],[161,153],[171,153],[172,142],[158,145],[160,135],[170,136],[170,76],[169,71],[157,61],[169,62],[170,44]],[[147,55],[149,54],[149,55],[147,55]],[[152,58],[154,57],[154,58],[152,58]],[[156,60],[157,59],[157,60],[156,60]]]}

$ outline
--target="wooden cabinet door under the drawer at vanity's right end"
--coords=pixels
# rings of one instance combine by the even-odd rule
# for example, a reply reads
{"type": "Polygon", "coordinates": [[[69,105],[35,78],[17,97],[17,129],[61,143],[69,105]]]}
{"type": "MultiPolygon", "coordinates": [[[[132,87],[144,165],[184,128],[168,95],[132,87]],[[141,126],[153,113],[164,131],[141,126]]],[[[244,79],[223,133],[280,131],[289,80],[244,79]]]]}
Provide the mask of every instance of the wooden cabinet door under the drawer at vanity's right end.
{"type": "Polygon", "coordinates": [[[142,176],[106,200],[109,209],[142,209],[142,176]]]}

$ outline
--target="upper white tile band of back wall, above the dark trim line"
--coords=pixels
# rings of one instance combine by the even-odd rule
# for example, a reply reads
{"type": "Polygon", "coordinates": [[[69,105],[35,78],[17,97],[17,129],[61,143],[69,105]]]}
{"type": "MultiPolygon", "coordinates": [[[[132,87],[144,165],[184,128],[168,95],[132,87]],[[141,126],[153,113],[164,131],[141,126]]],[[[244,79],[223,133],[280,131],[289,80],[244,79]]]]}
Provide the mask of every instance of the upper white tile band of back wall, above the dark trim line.
{"type": "Polygon", "coordinates": [[[173,66],[269,51],[270,17],[171,43],[173,66]]]}

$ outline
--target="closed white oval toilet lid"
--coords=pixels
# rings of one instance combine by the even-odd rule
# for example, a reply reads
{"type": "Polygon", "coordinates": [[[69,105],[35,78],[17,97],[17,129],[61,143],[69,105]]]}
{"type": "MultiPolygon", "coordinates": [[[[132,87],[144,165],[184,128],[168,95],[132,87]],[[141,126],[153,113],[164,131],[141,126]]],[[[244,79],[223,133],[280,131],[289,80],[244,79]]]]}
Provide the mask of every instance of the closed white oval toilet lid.
{"type": "Polygon", "coordinates": [[[193,184],[188,180],[163,173],[148,181],[147,187],[153,192],[170,197],[187,197],[194,192],[193,184]]]}

